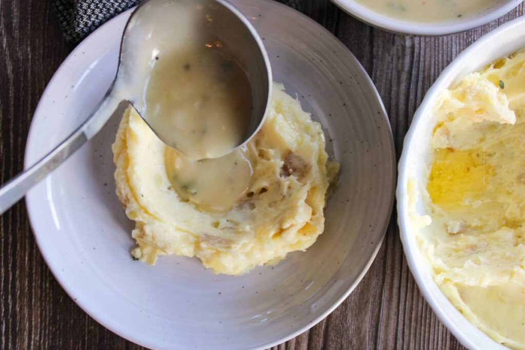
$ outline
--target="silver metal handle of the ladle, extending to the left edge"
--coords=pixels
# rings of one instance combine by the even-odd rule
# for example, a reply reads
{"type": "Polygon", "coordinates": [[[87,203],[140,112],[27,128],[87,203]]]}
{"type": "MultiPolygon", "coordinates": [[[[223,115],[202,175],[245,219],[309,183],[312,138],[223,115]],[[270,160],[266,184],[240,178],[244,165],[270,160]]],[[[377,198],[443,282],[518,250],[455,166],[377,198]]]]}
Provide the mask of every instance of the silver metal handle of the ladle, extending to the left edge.
{"type": "Polygon", "coordinates": [[[0,188],[0,215],[25,196],[27,191],[35,186],[47,174],[57,168],[69,156],[77,151],[91,137],[95,136],[109,120],[120,101],[110,97],[111,88],[102,99],[99,107],[88,120],[75,132],[62,141],[53,151],[38,162],[18,174],[0,188]]]}

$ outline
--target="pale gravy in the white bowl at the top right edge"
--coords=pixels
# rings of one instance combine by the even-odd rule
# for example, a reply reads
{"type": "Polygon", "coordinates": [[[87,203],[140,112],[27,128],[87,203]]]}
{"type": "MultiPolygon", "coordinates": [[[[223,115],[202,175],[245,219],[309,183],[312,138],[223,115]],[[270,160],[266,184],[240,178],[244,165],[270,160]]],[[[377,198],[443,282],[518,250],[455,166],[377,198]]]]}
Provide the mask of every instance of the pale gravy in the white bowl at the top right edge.
{"type": "Polygon", "coordinates": [[[355,0],[388,17],[409,22],[446,22],[483,12],[495,0],[355,0]]]}

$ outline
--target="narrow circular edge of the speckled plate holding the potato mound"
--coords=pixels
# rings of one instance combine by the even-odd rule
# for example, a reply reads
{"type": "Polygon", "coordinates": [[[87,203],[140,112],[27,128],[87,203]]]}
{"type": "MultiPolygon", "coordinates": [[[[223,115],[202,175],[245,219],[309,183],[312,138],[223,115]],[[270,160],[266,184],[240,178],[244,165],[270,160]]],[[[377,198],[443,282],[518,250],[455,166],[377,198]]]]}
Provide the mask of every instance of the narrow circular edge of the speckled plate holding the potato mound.
{"type": "MultiPolygon", "coordinates": [[[[281,6],[286,6],[286,5],[282,5],[281,6]]],[[[130,12],[133,11],[135,7],[132,7],[124,12],[122,12],[121,14],[117,15],[116,17],[120,17],[120,16],[128,16],[128,14],[130,12]]],[[[310,17],[308,17],[307,15],[304,15],[303,13],[301,12],[297,12],[300,16],[303,16],[304,18],[306,18],[307,20],[309,20],[310,22],[316,24],[316,25],[319,25],[316,21],[314,21],[313,19],[311,19],[310,17]]],[[[114,17],[114,18],[116,18],[114,17]]],[[[91,33],[88,37],[86,37],[85,39],[83,39],[81,41],[81,43],[74,49],[70,52],[70,54],[64,59],[64,61],[62,61],[61,65],[58,67],[58,69],[55,71],[53,77],[51,78],[51,80],[48,82],[47,86],[46,86],[46,89],[44,90],[44,92],[42,93],[42,96],[45,96],[46,94],[46,91],[48,89],[49,86],[51,86],[51,83],[54,81],[54,79],[56,79],[56,76],[58,76],[59,74],[59,71],[64,69],[64,62],[66,62],[67,60],[69,60],[71,57],[75,56],[76,54],[78,54],[78,52],[81,51],[81,44],[85,43],[85,41],[87,40],[98,40],[98,36],[102,35],[104,29],[106,27],[110,27],[111,25],[113,24],[112,22],[112,19],[108,20],[108,22],[104,23],[103,25],[101,25],[99,28],[97,28],[95,31],[93,31],[93,33],[91,33]]],[[[332,33],[330,33],[330,31],[322,26],[320,26],[327,35],[330,35],[330,36],[333,36],[332,33]]],[[[351,55],[352,57],[354,57],[355,61],[356,62],[359,62],[359,60],[357,60],[355,58],[355,56],[352,54],[352,51],[350,51],[344,44],[342,44],[339,40],[338,40],[338,44],[341,46],[341,48],[343,50],[345,50],[346,52],[348,52],[349,55],[351,55]]],[[[379,92],[377,91],[376,87],[375,87],[375,84],[373,83],[372,79],[370,78],[370,76],[368,75],[368,73],[366,72],[366,70],[363,68],[363,66],[361,64],[359,64],[359,69],[361,70],[361,72],[363,73],[364,75],[364,78],[365,78],[365,81],[366,83],[369,85],[370,89],[372,90],[374,96],[376,97],[377,99],[377,102],[379,102],[379,107],[381,109],[381,112],[382,112],[382,115],[383,115],[383,118],[385,119],[385,122],[386,122],[386,125],[388,127],[389,130],[391,130],[391,126],[390,126],[390,121],[388,120],[388,114],[386,113],[386,109],[384,107],[384,103],[383,103],[383,100],[381,99],[381,96],[379,94],[379,92]]],[[[35,110],[35,113],[34,114],[37,114],[38,110],[40,109],[40,103],[37,105],[37,108],[35,110]]],[[[26,151],[25,151],[25,154],[24,154],[24,168],[27,169],[29,166],[33,165],[33,163],[29,163],[28,162],[28,152],[29,150],[31,149],[31,140],[34,139],[34,137],[31,137],[32,134],[35,132],[35,128],[33,127],[33,123],[31,123],[30,127],[29,127],[29,132],[28,132],[28,136],[27,136],[27,144],[26,144],[26,151]]],[[[390,132],[389,134],[389,138],[390,138],[390,142],[391,144],[393,145],[394,143],[394,139],[393,139],[393,135],[392,135],[392,131],[390,132]]],[[[394,149],[392,149],[392,162],[395,163],[395,151],[394,149]]],[[[395,199],[395,196],[394,196],[394,192],[395,192],[395,179],[396,179],[396,169],[395,167],[393,168],[393,174],[392,174],[392,193],[390,193],[390,207],[393,208],[394,206],[394,199],[395,199]]],[[[31,204],[29,203],[29,200],[27,199],[27,197],[25,198],[25,204],[26,204],[26,207],[27,207],[27,215],[28,215],[28,218],[29,218],[29,224],[31,226],[31,230],[33,232],[35,232],[35,227],[33,225],[33,222],[34,222],[34,217],[33,217],[33,210],[37,210],[37,208],[33,208],[33,206],[31,206],[31,204]],[[33,209],[31,209],[33,208],[33,209]]],[[[392,211],[392,210],[391,210],[392,211]]],[[[381,240],[379,242],[377,242],[377,246],[376,248],[374,249],[374,251],[372,252],[371,256],[370,256],[370,259],[366,262],[365,264],[365,267],[364,269],[361,271],[361,273],[358,275],[358,277],[355,279],[355,281],[349,286],[349,288],[330,306],[327,308],[327,310],[325,310],[319,317],[317,317],[316,319],[314,319],[312,322],[304,325],[303,327],[299,328],[296,332],[293,332],[291,334],[289,334],[288,336],[284,336],[282,337],[280,340],[278,341],[275,341],[273,343],[269,343],[267,345],[265,345],[264,347],[261,347],[262,348],[269,348],[269,347],[274,347],[274,346],[277,346],[279,344],[282,344],[284,342],[287,342],[289,341],[290,339],[308,331],[311,327],[313,327],[314,325],[318,324],[319,322],[321,322],[322,320],[324,320],[329,314],[331,314],[335,309],[337,309],[337,307],[339,305],[341,305],[341,303],[346,299],[348,298],[348,296],[354,291],[354,289],[359,285],[359,283],[362,281],[362,279],[364,278],[365,274],[370,270],[370,266],[372,265],[372,263],[374,262],[375,260],[375,257],[377,256],[377,252],[379,252],[379,250],[381,249],[381,246],[383,245],[383,240],[384,240],[384,236],[386,234],[386,230],[388,229],[388,226],[390,225],[390,220],[392,218],[392,214],[391,216],[389,216],[388,218],[385,218],[384,220],[384,223],[383,223],[383,226],[381,227],[381,229],[384,231],[384,234],[381,238],[381,240]]],[[[39,236],[37,236],[36,234],[34,234],[34,237],[35,237],[35,241],[37,243],[37,247],[38,249],[40,250],[40,239],[39,239],[39,236]]],[[[40,250],[41,251],[41,250],[40,250]]],[[[53,277],[55,278],[55,280],[59,283],[60,287],[68,294],[69,298],[71,298],[81,309],[82,311],[84,311],[85,313],[87,313],[93,320],[97,321],[99,324],[101,324],[103,327],[107,328],[108,330],[110,330],[111,332],[119,335],[120,337],[124,338],[124,339],[127,339],[135,344],[138,344],[140,346],[144,346],[144,347],[147,347],[147,348],[151,348],[152,345],[151,344],[147,344],[147,343],[144,343],[142,342],[141,340],[139,340],[137,337],[134,337],[133,335],[129,334],[129,333],[125,333],[123,330],[121,330],[118,326],[114,325],[114,324],[110,324],[108,323],[106,320],[103,320],[101,319],[101,317],[97,317],[96,315],[94,315],[88,305],[87,305],[87,302],[83,299],[77,299],[76,298],[76,295],[74,294],[74,291],[71,290],[66,281],[62,281],[58,276],[57,274],[55,273],[55,270],[53,268],[51,268],[53,266],[53,263],[50,263],[49,259],[46,257],[45,254],[41,254],[44,261],[46,262],[47,266],[49,267],[49,270],[51,271],[51,273],[53,274],[53,277]]]]}

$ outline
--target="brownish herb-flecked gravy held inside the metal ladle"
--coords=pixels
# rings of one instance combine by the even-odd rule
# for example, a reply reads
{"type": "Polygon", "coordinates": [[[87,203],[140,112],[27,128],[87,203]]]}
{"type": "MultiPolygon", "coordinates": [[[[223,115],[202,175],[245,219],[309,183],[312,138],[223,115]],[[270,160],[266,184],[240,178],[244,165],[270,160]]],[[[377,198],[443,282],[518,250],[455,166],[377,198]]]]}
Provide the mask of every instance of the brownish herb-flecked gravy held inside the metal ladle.
{"type": "Polygon", "coordinates": [[[145,92],[144,117],[163,140],[193,160],[225,155],[242,143],[251,115],[251,89],[222,43],[159,55],[145,92]]]}

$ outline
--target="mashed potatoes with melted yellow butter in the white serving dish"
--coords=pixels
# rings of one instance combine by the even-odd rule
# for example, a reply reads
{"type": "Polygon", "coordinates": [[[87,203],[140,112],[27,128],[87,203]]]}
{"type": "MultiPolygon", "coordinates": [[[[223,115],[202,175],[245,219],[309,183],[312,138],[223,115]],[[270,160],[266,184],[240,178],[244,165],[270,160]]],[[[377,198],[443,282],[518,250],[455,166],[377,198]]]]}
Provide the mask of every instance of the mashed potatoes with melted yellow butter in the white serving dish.
{"type": "Polygon", "coordinates": [[[435,113],[418,241],[459,311],[525,349],[525,52],[466,76],[435,113]]]}

